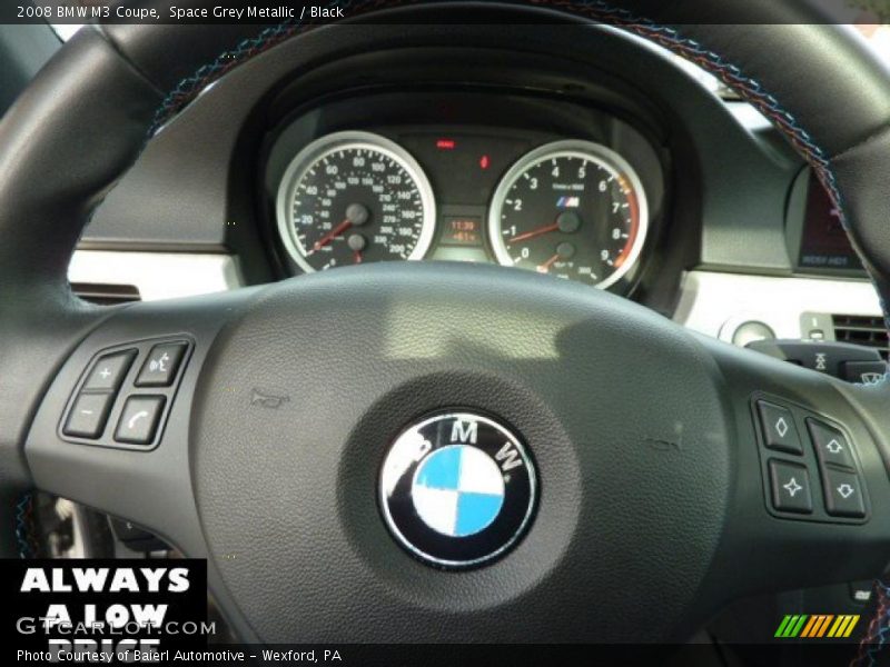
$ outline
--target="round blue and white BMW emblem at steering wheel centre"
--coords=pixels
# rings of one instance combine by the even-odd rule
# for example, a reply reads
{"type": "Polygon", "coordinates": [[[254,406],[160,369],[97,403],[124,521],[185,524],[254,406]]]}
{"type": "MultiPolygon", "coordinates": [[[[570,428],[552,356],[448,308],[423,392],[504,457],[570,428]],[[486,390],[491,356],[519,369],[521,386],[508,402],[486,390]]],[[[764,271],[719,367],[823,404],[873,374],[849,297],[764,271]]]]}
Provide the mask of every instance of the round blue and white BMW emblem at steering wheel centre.
{"type": "Polygon", "coordinates": [[[536,491],[520,439],[474,412],[439,414],[408,427],[380,471],[389,530],[438,567],[475,567],[506,554],[528,527],[536,491]]]}

